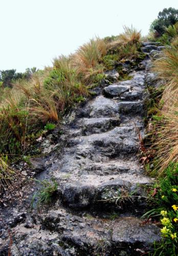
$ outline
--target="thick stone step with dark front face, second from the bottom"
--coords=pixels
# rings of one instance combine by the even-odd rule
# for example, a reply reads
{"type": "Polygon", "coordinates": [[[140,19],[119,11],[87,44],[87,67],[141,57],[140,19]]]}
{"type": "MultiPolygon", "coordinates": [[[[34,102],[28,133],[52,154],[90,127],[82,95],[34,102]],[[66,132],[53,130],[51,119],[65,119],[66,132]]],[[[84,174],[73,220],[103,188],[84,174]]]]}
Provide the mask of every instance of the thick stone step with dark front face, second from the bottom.
{"type": "MultiPolygon", "coordinates": [[[[135,173],[103,176],[93,174],[81,175],[72,182],[59,182],[58,190],[62,202],[74,209],[98,208],[98,205],[104,206],[105,203],[116,207],[117,198],[123,196],[125,200],[122,202],[122,208],[132,205],[134,209],[127,209],[128,212],[132,212],[145,205],[143,185],[151,183],[150,178],[135,173]],[[130,195],[132,196],[129,197],[130,195]]],[[[118,206],[120,203],[118,200],[118,206]]]]}

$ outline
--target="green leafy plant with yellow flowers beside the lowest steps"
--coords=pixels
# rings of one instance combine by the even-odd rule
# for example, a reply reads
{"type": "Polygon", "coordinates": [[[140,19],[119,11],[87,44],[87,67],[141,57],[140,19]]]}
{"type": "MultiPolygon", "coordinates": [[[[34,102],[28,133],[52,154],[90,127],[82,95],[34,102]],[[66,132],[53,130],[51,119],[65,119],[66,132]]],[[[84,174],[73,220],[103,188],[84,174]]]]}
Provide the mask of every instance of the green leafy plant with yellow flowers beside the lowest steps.
{"type": "Polygon", "coordinates": [[[162,225],[162,241],[154,244],[154,252],[150,255],[176,256],[178,253],[178,163],[170,163],[165,173],[166,177],[160,178],[156,188],[153,188],[153,191],[155,189],[157,191],[154,209],[149,210],[143,217],[159,217],[162,225]]]}

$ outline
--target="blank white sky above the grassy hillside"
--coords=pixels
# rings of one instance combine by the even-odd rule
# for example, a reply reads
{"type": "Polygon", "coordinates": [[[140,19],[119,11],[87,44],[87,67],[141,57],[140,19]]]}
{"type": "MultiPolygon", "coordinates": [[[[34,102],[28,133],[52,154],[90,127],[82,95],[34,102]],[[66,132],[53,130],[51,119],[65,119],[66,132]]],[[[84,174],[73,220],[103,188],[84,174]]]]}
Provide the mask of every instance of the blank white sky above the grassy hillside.
{"type": "Polygon", "coordinates": [[[51,66],[88,39],[131,24],[146,35],[159,11],[178,0],[0,0],[0,70],[51,66]]]}

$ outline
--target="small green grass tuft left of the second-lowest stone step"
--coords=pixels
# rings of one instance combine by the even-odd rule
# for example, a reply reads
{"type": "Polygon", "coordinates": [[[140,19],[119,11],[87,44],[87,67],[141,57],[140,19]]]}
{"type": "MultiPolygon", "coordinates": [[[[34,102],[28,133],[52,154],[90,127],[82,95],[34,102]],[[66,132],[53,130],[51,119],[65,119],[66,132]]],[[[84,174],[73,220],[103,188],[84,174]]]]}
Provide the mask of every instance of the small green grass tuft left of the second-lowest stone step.
{"type": "Polygon", "coordinates": [[[34,207],[35,200],[37,200],[36,206],[39,210],[41,206],[51,204],[54,201],[57,193],[57,181],[54,178],[51,181],[35,181],[40,184],[40,188],[32,197],[31,208],[34,207]]]}

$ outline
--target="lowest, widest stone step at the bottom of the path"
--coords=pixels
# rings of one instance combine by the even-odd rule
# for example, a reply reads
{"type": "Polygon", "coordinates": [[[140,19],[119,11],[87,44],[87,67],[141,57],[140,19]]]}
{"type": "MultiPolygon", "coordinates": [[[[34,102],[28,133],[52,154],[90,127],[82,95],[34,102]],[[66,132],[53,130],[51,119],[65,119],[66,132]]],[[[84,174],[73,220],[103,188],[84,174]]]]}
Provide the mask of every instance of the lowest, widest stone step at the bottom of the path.
{"type": "MultiPolygon", "coordinates": [[[[83,217],[65,209],[49,210],[35,223],[21,223],[12,228],[12,256],[24,255],[140,255],[161,241],[160,228],[135,217],[117,217],[115,220],[83,217]]],[[[0,254],[7,255],[9,237],[1,241],[0,254]]]]}

